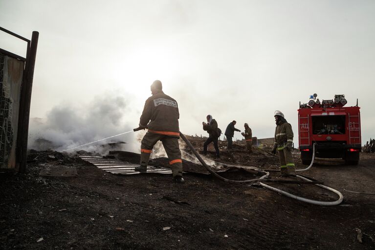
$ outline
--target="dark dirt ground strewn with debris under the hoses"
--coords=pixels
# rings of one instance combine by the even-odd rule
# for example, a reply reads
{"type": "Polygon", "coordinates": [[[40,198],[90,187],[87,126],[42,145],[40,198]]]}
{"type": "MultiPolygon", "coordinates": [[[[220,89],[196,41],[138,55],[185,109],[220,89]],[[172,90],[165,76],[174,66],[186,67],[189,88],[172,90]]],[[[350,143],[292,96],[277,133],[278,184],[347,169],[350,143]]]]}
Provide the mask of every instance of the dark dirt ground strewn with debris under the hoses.
{"type": "MultiPolygon", "coordinates": [[[[202,150],[201,139],[192,143],[202,150]]],[[[213,148],[209,150],[213,156],[213,148]]],[[[240,145],[234,154],[221,151],[218,161],[224,163],[278,169],[278,159],[264,150],[254,149],[251,156],[240,145]]],[[[297,150],[294,156],[297,168],[305,168],[297,150]]],[[[137,154],[122,158],[139,161],[137,154]]],[[[32,151],[28,159],[25,174],[0,174],[4,250],[375,249],[375,154],[361,153],[358,166],[318,159],[303,172],[344,195],[336,206],[310,205],[259,185],[228,184],[186,161],[202,173],[185,173],[186,182],[174,184],[171,175],[114,175],[53,151],[32,151]],[[39,175],[45,166],[55,165],[74,166],[78,175],[39,175]]],[[[154,159],[152,164],[166,162],[154,159]]],[[[241,169],[221,175],[233,180],[257,177],[241,169]]],[[[270,176],[292,180],[274,171],[270,176]]],[[[270,185],[310,199],[338,199],[311,184],[270,185]]]]}

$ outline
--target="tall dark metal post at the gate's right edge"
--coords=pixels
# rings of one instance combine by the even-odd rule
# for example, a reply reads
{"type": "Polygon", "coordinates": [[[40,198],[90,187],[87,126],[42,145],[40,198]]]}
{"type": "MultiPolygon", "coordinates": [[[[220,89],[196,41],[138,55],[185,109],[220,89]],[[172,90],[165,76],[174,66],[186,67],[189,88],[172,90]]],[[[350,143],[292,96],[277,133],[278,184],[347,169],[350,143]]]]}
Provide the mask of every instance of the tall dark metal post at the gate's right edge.
{"type": "Polygon", "coordinates": [[[19,170],[23,173],[26,170],[27,161],[27,139],[29,134],[31,92],[33,87],[35,59],[37,55],[39,32],[33,31],[30,47],[28,47],[26,65],[24,69],[24,82],[21,88],[20,117],[17,140],[17,156],[19,170]]]}

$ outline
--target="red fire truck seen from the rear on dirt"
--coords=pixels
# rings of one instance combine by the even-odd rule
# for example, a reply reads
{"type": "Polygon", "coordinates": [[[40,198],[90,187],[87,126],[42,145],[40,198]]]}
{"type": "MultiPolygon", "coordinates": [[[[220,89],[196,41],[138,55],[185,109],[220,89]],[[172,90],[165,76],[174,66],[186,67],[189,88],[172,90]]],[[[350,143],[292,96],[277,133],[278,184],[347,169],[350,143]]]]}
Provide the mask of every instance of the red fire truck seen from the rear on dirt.
{"type": "Polygon", "coordinates": [[[309,165],[313,144],[315,157],[342,158],[345,164],[357,165],[361,151],[361,123],[357,105],[344,107],[347,100],[343,94],[332,100],[310,96],[308,103],[298,110],[298,139],[302,163],[309,165]]]}

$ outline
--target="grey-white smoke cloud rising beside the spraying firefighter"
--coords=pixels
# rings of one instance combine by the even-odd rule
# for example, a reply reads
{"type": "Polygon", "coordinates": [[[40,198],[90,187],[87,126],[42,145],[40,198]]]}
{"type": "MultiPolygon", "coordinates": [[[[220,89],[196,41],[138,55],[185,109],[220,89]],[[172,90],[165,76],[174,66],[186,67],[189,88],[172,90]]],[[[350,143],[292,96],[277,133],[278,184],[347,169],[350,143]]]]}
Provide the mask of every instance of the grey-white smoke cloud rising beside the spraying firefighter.
{"type": "MultiPolygon", "coordinates": [[[[129,99],[123,95],[105,94],[95,97],[87,105],[54,107],[45,119],[30,119],[28,147],[36,150],[49,148],[63,151],[131,131],[130,121],[126,119],[132,112],[129,103],[129,99]]],[[[122,149],[136,151],[139,144],[133,139],[133,135],[131,132],[75,148],[74,151],[85,150],[103,154],[110,150],[110,147],[103,145],[116,142],[126,142],[121,144],[122,149]]]]}

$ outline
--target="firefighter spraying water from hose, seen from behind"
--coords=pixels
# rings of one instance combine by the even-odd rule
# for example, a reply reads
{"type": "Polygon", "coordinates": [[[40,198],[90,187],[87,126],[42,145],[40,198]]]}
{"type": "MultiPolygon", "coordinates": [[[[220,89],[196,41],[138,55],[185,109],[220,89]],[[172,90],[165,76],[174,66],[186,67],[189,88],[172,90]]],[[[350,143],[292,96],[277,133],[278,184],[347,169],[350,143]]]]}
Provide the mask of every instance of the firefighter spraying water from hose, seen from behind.
{"type": "Polygon", "coordinates": [[[146,172],[152,149],[161,140],[168,155],[169,164],[176,183],[184,182],[182,178],[181,151],[178,146],[178,106],[175,99],[162,91],[162,84],[156,80],[151,85],[152,96],[146,100],[139,128],[148,128],[141,142],[140,166],[136,171],[146,172]],[[150,121],[150,122],[149,122],[150,121]]]}

